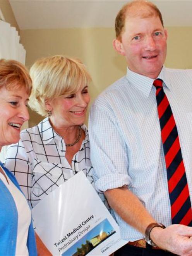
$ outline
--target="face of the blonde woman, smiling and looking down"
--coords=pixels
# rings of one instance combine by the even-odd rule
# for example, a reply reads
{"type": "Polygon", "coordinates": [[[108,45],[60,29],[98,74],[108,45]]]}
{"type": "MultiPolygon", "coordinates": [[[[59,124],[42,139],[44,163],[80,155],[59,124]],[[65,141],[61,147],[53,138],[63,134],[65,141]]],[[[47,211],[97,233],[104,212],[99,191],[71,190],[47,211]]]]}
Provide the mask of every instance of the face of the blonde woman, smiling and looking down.
{"type": "Polygon", "coordinates": [[[60,96],[50,104],[51,122],[57,127],[68,127],[84,123],[90,101],[88,86],[67,96],[60,96]]]}

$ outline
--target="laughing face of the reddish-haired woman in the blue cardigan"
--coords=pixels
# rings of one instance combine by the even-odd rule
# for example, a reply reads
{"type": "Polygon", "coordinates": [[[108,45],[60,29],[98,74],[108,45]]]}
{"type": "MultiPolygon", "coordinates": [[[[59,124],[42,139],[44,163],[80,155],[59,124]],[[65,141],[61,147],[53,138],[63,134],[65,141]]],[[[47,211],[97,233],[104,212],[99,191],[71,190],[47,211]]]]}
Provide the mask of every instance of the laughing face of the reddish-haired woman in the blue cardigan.
{"type": "Polygon", "coordinates": [[[29,95],[24,87],[0,89],[0,149],[19,141],[21,125],[29,119],[28,101],[29,95]]]}

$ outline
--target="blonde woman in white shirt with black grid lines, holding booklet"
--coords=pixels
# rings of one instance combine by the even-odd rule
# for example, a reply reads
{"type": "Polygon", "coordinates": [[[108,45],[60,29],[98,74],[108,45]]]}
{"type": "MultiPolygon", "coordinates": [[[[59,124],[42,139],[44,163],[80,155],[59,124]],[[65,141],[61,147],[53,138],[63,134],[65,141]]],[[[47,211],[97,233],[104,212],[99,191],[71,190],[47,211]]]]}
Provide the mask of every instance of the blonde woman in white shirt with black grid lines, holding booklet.
{"type": "Polygon", "coordinates": [[[37,60],[30,75],[29,105],[45,119],[21,132],[19,143],[8,148],[5,165],[34,207],[81,170],[93,182],[88,131],[83,124],[91,77],[81,61],[60,55],[37,60]]]}

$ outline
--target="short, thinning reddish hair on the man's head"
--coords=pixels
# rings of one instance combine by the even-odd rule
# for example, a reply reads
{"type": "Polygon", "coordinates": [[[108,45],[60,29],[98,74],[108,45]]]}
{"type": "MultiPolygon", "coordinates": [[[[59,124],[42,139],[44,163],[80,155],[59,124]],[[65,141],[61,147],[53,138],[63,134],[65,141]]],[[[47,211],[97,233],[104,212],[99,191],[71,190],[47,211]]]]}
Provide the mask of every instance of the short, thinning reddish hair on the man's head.
{"type": "Polygon", "coordinates": [[[121,35],[124,31],[125,19],[127,17],[141,17],[147,18],[156,15],[159,17],[161,24],[163,26],[163,19],[161,12],[158,7],[151,2],[146,0],[135,0],[123,5],[122,9],[118,12],[117,17],[115,19],[115,33],[116,38],[121,41],[121,35]],[[141,9],[138,7],[147,7],[144,8],[141,12],[141,9]]]}

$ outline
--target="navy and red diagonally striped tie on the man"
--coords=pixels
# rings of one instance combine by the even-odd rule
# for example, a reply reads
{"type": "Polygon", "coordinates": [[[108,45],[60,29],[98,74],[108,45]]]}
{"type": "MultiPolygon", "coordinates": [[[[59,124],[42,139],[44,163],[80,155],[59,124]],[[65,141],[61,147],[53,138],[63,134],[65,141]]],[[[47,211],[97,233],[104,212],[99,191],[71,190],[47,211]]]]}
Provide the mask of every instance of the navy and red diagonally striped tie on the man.
{"type": "Polygon", "coordinates": [[[169,101],[163,90],[163,81],[156,79],[156,100],[158,106],[161,139],[165,154],[168,189],[171,203],[172,224],[192,226],[192,210],[189,197],[189,188],[182,152],[179,143],[177,126],[171,111],[169,101]]]}

